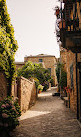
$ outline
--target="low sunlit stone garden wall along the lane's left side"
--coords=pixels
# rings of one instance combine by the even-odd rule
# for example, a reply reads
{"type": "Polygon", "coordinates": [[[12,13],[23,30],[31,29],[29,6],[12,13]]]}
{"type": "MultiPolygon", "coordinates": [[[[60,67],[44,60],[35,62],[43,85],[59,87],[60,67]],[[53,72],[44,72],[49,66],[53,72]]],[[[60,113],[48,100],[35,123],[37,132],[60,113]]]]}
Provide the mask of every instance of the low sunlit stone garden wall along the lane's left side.
{"type": "Polygon", "coordinates": [[[35,104],[37,98],[35,82],[20,77],[18,78],[17,86],[19,105],[21,111],[25,112],[29,107],[35,104]]]}

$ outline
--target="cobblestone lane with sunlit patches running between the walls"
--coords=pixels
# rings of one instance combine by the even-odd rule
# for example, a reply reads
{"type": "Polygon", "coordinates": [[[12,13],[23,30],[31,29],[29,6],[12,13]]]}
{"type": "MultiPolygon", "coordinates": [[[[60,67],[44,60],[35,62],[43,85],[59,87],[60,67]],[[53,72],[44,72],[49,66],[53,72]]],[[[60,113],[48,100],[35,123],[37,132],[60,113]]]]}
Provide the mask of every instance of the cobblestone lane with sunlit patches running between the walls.
{"type": "Polygon", "coordinates": [[[35,106],[21,116],[12,137],[81,137],[76,116],[60,97],[52,96],[55,90],[39,94],[35,106]]]}

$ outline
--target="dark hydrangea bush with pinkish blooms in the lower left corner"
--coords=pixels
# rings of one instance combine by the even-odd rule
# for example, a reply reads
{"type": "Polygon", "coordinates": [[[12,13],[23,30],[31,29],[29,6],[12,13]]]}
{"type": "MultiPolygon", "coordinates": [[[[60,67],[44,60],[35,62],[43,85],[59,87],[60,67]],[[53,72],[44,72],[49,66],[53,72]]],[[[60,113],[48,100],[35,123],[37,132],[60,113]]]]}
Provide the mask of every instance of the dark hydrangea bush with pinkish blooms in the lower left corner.
{"type": "Polygon", "coordinates": [[[19,125],[18,117],[21,116],[18,100],[7,97],[0,101],[0,133],[1,131],[11,131],[19,125]]]}

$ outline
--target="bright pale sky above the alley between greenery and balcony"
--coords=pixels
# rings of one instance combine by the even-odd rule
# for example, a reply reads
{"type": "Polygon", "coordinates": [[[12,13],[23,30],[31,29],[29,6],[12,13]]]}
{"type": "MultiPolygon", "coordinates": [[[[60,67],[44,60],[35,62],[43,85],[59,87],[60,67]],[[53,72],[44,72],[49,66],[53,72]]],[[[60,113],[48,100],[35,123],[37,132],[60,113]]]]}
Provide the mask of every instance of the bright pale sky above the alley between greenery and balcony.
{"type": "Polygon", "coordinates": [[[50,54],[59,57],[53,10],[58,0],[6,1],[19,46],[15,61],[24,61],[26,55],[50,54]]]}

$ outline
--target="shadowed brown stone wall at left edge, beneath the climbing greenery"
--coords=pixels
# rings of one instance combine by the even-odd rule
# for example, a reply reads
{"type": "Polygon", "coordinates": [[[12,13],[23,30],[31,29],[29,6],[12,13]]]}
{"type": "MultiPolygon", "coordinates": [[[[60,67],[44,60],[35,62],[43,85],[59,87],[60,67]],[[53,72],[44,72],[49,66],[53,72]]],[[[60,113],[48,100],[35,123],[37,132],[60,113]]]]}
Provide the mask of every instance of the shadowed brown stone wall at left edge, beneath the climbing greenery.
{"type": "Polygon", "coordinates": [[[7,96],[7,79],[3,71],[0,71],[0,100],[7,96]]]}

